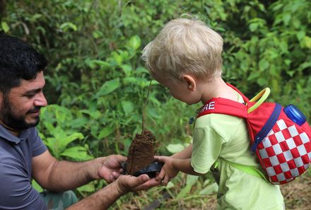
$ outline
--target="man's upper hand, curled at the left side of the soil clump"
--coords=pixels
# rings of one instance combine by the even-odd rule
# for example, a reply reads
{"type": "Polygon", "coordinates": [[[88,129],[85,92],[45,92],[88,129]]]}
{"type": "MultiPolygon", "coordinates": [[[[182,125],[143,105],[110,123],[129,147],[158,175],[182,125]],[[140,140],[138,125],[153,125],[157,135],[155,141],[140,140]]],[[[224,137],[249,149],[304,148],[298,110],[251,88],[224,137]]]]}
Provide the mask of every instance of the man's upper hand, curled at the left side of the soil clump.
{"type": "Polygon", "coordinates": [[[105,157],[105,160],[98,171],[99,176],[109,183],[115,181],[120,175],[120,164],[124,161],[127,161],[127,158],[120,155],[105,157]]]}

